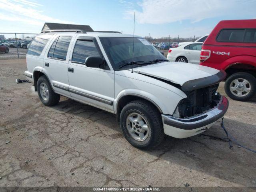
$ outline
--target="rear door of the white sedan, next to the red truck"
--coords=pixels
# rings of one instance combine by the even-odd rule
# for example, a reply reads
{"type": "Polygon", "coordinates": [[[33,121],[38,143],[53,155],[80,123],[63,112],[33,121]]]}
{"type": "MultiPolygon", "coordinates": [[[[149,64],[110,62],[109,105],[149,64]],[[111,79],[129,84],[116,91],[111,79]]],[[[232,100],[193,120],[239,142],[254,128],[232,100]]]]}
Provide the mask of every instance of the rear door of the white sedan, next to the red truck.
{"type": "Polygon", "coordinates": [[[202,49],[201,43],[193,43],[189,45],[187,50],[188,62],[193,64],[200,63],[200,53],[202,49]]]}

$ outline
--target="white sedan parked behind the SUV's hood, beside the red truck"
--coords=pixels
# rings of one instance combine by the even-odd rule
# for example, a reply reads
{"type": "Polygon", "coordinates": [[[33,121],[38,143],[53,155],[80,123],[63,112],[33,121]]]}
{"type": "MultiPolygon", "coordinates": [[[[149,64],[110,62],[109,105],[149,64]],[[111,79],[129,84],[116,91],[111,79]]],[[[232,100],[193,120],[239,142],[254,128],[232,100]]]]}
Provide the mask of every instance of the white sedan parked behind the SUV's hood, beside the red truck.
{"type": "Polygon", "coordinates": [[[202,42],[194,42],[177,48],[170,48],[167,59],[169,61],[199,64],[202,44],[202,42]]]}

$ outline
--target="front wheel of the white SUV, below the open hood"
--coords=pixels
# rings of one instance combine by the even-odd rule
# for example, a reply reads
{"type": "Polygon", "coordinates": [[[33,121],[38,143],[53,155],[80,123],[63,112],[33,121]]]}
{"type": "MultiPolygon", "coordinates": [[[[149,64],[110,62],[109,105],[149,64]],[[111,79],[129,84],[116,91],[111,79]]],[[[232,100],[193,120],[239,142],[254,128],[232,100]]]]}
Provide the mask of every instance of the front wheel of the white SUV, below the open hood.
{"type": "Polygon", "coordinates": [[[120,127],[126,140],[137,148],[155,148],[164,138],[161,114],[145,100],[135,100],[124,106],[120,127]]]}

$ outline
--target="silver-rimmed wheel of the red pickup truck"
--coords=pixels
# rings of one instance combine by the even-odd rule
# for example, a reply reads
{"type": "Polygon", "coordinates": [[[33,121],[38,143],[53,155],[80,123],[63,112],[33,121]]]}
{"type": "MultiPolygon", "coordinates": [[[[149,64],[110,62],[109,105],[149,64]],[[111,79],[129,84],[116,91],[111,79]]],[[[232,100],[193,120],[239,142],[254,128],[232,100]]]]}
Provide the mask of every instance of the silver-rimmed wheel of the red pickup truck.
{"type": "Polygon", "coordinates": [[[225,92],[234,100],[249,100],[256,93],[256,78],[246,72],[232,74],[225,82],[225,92]]]}

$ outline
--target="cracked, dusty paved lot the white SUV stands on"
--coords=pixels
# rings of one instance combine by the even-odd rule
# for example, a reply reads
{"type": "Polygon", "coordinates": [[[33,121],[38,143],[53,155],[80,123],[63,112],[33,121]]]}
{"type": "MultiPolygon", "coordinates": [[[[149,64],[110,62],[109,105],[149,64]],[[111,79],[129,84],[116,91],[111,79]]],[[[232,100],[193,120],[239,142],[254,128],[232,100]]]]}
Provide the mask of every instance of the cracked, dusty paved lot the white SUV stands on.
{"type": "MultiPolygon", "coordinates": [[[[25,59],[0,60],[0,186],[256,186],[256,154],[230,150],[219,122],[138,150],[113,114],[64,97],[44,106],[32,84],[15,83],[25,70],[25,59]]],[[[226,129],[255,149],[256,98],[229,101],[226,129]]]]}

